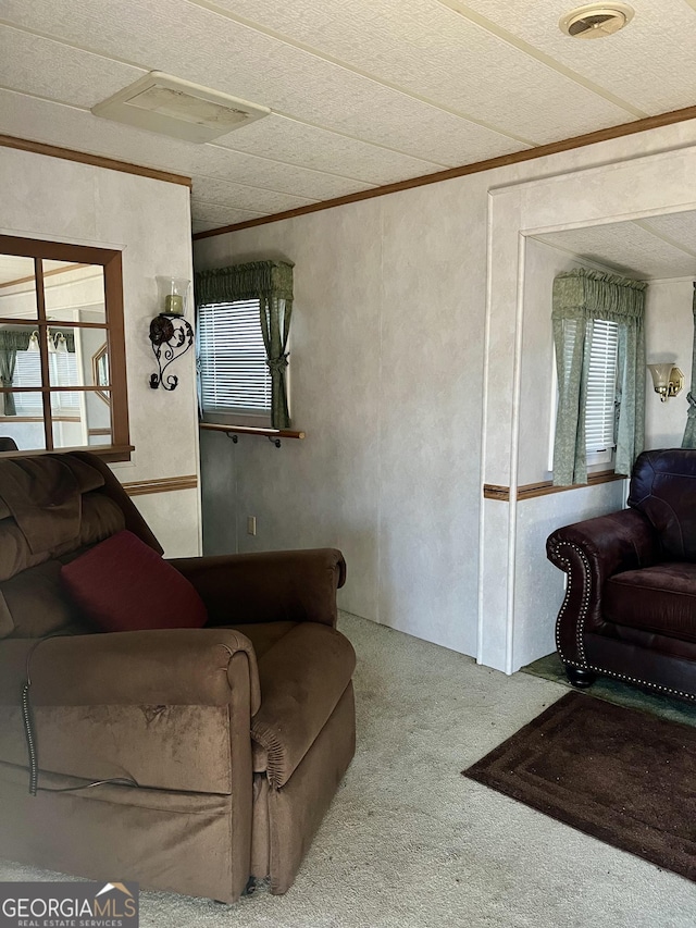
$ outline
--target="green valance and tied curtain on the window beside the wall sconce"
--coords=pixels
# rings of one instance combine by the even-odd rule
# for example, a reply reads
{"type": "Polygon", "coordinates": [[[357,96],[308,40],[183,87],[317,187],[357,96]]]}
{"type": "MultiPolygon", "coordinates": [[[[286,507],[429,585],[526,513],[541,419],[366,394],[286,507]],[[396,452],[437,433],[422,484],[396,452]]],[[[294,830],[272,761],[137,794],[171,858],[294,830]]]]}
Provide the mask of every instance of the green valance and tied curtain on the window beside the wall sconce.
{"type": "Polygon", "coordinates": [[[258,299],[266,364],[271,372],[271,425],[288,429],[287,339],[293,315],[293,268],[288,261],[251,261],[196,274],[196,306],[258,299]]]}

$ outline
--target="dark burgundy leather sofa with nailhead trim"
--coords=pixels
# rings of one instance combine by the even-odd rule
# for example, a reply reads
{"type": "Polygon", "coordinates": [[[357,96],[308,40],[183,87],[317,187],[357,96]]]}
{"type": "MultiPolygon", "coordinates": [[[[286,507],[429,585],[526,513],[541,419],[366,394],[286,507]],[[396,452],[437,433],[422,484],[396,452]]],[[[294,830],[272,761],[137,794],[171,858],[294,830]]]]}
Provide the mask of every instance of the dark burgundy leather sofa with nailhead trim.
{"type": "Polygon", "coordinates": [[[629,508],[558,529],[568,574],[556,623],[568,679],[597,675],[696,700],[696,450],[644,451],[629,508]]]}

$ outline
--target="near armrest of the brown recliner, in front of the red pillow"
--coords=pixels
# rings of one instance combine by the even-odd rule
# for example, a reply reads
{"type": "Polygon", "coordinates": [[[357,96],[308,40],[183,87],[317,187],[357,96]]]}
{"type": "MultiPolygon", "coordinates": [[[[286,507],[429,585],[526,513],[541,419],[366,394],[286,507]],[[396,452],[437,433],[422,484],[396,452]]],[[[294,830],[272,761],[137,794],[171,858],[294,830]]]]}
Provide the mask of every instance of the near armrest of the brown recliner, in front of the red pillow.
{"type": "Polygon", "coordinates": [[[17,705],[27,679],[35,706],[202,705],[231,701],[248,676],[251,713],[261,698],[253,646],[232,629],[65,635],[0,642],[0,705],[17,705]],[[246,659],[233,659],[240,654],[246,659]]]}

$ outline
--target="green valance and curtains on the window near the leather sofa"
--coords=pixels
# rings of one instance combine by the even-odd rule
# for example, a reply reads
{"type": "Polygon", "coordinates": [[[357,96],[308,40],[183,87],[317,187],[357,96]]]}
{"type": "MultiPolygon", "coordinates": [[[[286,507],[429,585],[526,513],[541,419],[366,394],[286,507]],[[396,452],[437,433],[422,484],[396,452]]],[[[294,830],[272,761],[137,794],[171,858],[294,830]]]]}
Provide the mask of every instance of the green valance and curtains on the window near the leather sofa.
{"type": "Polygon", "coordinates": [[[645,441],[645,290],[631,281],[579,268],[554,281],[552,324],[558,370],[554,485],[587,483],[585,400],[593,321],[619,325],[617,473],[631,473],[645,441]]]}

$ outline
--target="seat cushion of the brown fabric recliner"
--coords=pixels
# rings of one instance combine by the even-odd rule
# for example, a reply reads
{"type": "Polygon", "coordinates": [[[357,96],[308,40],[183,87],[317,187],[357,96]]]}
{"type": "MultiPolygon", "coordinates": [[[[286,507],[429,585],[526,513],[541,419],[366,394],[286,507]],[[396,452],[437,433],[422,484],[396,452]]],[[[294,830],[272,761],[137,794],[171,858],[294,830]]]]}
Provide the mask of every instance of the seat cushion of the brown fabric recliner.
{"type": "Polygon", "coordinates": [[[340,632],[314,622],[295,626],[259,660],[263,694],[251,722],[254,770],[281,789],[326,725],[356,667],[340,632]]]}

